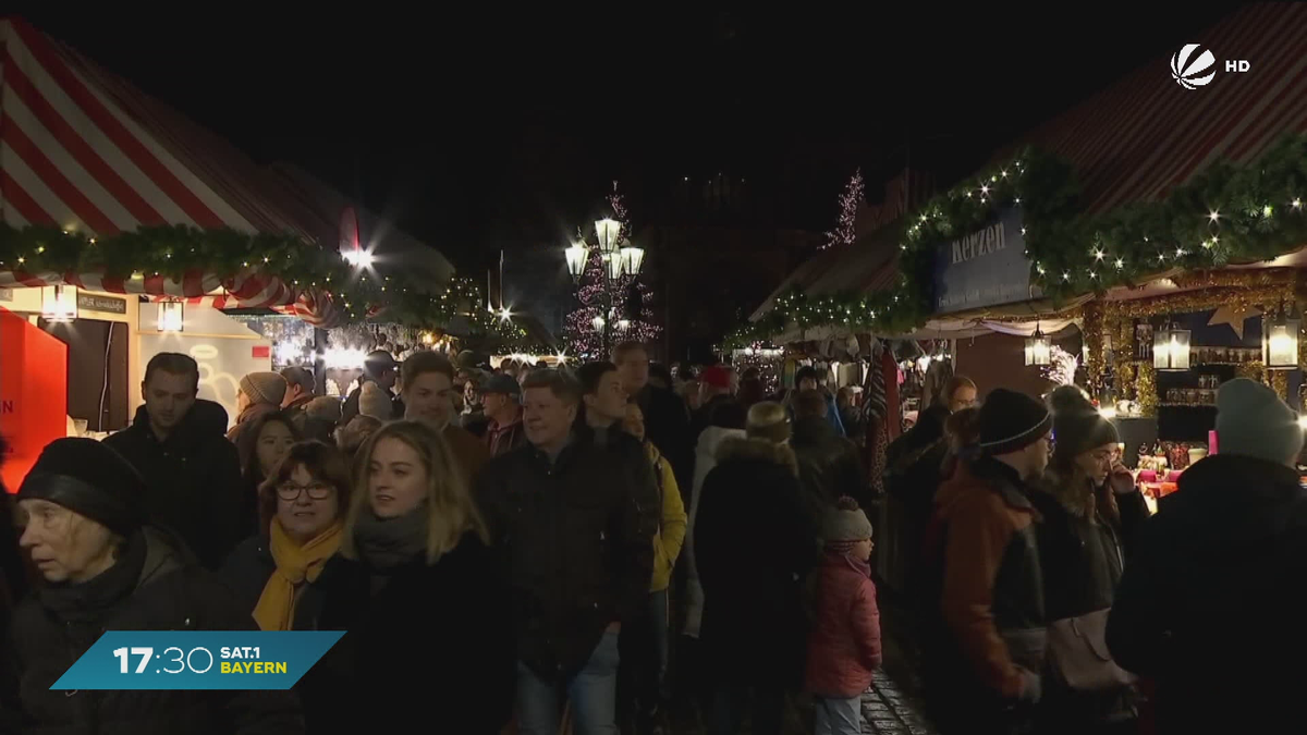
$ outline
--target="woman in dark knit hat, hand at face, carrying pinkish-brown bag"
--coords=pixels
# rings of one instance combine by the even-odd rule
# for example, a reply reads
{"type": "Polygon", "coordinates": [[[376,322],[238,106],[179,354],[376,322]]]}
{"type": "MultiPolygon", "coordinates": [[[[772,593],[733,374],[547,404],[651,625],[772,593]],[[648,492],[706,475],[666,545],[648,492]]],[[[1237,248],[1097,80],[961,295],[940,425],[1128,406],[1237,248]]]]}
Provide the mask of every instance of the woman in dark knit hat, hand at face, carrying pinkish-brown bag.
{"type": "Polygon", "coordinates": [[[1133,727],[1133,692],[1106,655],[1107,612],[1125,564],[1127,539],[1148,518],[1119,460],[1116,428],[1076,386],[1048,396],[1053,453],[1030,502],[1050,621],[1050,676],[1039,717],[1050,732],[1133,727]],[[1085,663],[1090,666],[1086,668],[1085,663]]]}

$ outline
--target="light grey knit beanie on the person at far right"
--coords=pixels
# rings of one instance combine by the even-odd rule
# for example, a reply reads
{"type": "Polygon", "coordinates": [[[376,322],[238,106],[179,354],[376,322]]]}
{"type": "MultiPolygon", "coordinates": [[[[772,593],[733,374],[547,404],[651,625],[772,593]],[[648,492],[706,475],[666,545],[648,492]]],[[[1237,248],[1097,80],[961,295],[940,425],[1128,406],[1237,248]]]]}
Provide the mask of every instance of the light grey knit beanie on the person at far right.
{"type": "Polygon", "coordinates": [[[1235,378],[1217,391],[1217,446],[1221,454],[1294,467],[1303,449],[1303,430],[1298,415],[1276,391],[1235,378]]]}

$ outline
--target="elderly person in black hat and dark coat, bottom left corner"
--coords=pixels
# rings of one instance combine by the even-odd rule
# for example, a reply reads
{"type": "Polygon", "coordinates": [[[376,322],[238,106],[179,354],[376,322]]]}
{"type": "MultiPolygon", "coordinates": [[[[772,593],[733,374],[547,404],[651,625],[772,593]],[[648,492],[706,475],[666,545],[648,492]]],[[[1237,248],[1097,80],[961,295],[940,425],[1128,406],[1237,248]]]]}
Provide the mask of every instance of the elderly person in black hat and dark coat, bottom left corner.
{"type": "MultiPolygon", "coordinates": [[[[18,489],[20,545],[43,578],[14,611],[16,691],[0,693],[24,732],[303,732],[288,692],[51,691],[106,630],[252,629],[221,583],[144,524],[141,477],[112,449],[51,442],[18,489]]],[[[3,728],[3,727],[0,727],[3,728]]]]}

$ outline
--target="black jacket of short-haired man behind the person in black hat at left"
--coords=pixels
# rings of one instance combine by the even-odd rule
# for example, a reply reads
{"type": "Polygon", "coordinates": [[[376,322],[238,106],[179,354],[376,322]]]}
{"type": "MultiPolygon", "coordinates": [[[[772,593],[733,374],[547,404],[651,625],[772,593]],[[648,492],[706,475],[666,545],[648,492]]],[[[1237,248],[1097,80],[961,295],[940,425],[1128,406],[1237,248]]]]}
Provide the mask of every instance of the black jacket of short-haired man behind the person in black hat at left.
{"type": "Polygon", "coordinates": [[[161,442],[142,405],[131,426],[105,439],[145,479],[152,522],[175,532],[207,569],[217,569],[243,538],[244,483],[237,447],[222,436],[226,425],[221,405],[196,400],[161,442]]]}

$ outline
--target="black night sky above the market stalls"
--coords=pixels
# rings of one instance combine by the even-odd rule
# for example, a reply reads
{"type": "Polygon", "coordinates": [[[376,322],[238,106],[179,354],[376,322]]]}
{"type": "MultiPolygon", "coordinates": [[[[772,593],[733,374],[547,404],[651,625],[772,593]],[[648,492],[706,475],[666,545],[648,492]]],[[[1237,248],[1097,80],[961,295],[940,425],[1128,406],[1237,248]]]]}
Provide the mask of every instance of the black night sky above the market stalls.
{"type": "Polygon", "coordinates": [[[471,269],[502,245],[562,245],[613,178],[635,192],[637,221],[642,195],[727,171],[791,201],[782,225],[827,229],[852,169],[877,194],[910,132],[948,136],[914,156],[933,150],[965,174],[1121,73],[1201,42],[1234,4],[319,4],[285,17],[52,5],[16,10],[256,161],[361,192],[471,269]]]}

